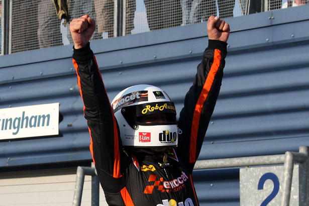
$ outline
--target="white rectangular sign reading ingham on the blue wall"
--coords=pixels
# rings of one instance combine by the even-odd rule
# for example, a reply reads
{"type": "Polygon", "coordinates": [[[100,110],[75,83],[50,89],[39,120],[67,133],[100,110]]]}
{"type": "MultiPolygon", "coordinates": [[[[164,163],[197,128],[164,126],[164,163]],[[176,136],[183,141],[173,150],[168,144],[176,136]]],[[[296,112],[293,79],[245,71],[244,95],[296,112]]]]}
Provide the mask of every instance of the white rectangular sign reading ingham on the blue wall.
{"type": "Polygon", "coordinates": [[[59,103],[0,109],[0,140],[59,134],[59,103]]]}

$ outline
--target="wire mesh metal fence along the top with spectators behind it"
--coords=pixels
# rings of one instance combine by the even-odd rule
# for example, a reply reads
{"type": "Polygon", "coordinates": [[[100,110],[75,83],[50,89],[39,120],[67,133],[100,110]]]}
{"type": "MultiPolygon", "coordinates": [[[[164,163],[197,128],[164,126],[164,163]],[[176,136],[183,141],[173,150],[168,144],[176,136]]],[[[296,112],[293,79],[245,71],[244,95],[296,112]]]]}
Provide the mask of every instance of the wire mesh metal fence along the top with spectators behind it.
{"type": "Polygon", "coordinates": [[[308,0],[0,0],[1,54],[72,44],[69,22],[96,20],[92,40],[303,5],[308,0]]]}

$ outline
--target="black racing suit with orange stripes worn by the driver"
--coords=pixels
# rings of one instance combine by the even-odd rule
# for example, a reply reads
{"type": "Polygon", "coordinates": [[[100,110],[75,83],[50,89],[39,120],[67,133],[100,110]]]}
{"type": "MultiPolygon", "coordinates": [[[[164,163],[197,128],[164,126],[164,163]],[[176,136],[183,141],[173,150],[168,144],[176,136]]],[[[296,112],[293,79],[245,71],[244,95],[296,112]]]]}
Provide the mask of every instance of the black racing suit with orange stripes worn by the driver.
{"type": "Polygon", "coordinates": [[[89,43],[75,50],[90,152],[109,205],[197,206],[192,170],[219,94],[227,44],[210,40],[178,120],[178,147],[155,154],[124,150],[89,43]],[[163,162],[164,154],[168,154],[163,162]]]}

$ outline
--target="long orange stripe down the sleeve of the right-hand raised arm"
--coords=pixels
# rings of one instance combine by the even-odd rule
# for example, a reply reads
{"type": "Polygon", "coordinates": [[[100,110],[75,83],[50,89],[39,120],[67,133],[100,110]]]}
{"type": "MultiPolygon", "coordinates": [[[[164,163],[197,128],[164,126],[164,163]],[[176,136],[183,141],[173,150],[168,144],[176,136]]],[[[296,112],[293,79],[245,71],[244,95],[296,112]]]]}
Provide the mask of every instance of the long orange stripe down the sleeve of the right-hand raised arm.
{"type": "Polygon", "coordinates": [[[190,163],[193,163],[196,160],[195,159],[196,142],[197,142],[197,133],[198,133],[200,114],[201,114],[202,107],[208,97],[209,91],[213,85],[215,76],[220,66],[220,62],[221,62],[221,51],[219,49],[215,49],[213,65],[203,85],[202,91],[197,99],[194,113],[193,113],[191,135],[190,135],[190,161],[189,161],[190,163]]]}

